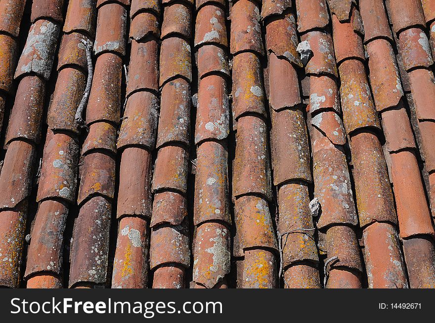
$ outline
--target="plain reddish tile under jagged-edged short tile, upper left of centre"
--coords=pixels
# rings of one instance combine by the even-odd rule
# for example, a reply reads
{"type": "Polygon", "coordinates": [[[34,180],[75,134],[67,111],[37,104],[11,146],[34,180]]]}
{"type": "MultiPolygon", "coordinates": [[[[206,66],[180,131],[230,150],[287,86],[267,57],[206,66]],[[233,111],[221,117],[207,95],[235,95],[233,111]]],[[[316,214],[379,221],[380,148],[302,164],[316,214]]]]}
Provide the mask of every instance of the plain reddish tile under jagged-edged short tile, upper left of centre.
{"type": "Polygon", "coordinates": [[[129,81],[126,95],[136,90],[159,89],[158,45],[156,40],[131,40],[129,81]]]}

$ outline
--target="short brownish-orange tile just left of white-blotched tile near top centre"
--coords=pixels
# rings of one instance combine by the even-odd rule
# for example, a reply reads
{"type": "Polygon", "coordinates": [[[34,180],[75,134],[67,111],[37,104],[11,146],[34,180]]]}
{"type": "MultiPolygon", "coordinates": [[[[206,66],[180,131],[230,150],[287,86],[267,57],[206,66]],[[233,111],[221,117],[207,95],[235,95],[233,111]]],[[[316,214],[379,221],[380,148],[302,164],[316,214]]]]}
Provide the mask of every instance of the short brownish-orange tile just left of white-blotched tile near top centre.
{"type": "Polygon", "coordinates": [[[173,3],[166,6],[163,11],[162,38],[178,34],[189,39],[191,20],[192,11],[186,3],[173,3]]]}

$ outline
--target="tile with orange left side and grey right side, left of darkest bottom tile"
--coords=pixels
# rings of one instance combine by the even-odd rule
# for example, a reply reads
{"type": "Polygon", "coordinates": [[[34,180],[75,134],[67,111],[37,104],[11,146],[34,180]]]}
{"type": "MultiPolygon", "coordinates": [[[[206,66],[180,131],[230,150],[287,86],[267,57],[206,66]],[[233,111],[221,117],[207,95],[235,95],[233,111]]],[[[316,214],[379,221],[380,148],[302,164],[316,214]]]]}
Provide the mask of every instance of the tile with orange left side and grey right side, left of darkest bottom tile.
{"type": "Polygon", "coordinates": [[[63,244],[68,207],[65,202],[44,201],[39,205],[27,252],[24,277],[45,272],[62,273],[63,244]]]}

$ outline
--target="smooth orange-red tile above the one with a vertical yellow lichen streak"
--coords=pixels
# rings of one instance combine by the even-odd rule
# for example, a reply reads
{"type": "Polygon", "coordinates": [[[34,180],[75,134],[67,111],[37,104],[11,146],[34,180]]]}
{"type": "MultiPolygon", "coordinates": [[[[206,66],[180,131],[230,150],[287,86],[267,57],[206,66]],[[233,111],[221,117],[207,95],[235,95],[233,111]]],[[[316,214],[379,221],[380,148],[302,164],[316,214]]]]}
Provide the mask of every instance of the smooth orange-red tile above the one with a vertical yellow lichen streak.
{"type": "Polygon", "coordinates": [[[151,154],[141,148],[123,151],[119,170],[117,217],[151,218],[151,154]]]}

